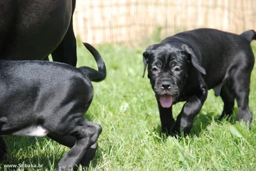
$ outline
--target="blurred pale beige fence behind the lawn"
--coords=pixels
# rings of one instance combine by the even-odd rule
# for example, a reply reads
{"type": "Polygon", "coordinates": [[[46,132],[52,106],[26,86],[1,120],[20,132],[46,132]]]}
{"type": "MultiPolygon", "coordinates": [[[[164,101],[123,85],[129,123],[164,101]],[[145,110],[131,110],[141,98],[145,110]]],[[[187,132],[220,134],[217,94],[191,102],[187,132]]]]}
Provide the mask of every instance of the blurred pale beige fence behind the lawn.
{"type": "Polygon", "coordinates": [[[200,27],[241,34],[256,29],[255,8],[256,0],[77,0],[74,31],[94,45],[132,47],[200,27]]]}

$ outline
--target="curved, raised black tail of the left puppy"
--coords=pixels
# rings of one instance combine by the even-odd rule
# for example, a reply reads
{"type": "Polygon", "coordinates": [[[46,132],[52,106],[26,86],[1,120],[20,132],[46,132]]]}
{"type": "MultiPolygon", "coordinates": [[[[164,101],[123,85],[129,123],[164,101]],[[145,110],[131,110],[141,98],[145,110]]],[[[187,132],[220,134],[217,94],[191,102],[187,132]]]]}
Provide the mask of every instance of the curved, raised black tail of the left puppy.
{"type": "Polygon", "coordinates": [[[106,78],[107,71],[105,63],[100,56],[99,52],[89,43],[83,43],[84,46],[91,52],[92,56],[94,57],[98,70],[94,70],[93,68],[90,68],[88,66],[81,66],[79,69],[83,71],[83,73],[93,82],[100,82],[106,78]]]}

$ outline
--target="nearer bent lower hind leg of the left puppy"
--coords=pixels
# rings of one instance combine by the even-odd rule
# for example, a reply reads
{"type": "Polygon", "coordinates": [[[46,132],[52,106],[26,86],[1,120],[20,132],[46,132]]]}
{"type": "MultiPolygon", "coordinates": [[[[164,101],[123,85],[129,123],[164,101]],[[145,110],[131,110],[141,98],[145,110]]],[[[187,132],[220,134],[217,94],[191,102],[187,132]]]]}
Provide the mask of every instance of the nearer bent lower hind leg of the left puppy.
{"type": "Polygon", "coordinates": [[[83,121],[73,130],[72,136],[76,137],[76,144],[65,154],[58,163],[58,170],[72,170],[79,165],[88,149],[97,142],[102,131],[99,124],[83,121]]]}

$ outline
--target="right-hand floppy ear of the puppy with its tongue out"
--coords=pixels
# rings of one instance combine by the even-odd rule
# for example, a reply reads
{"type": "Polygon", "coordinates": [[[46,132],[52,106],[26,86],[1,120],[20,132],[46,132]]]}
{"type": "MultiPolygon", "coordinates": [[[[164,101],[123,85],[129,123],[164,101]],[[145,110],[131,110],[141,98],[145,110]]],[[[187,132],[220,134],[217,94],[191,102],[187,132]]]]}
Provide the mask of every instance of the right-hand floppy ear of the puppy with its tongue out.
{"type": "Polygon", "coordinates": [[[187,61],[189,61],[189,58],[190,58],[190,61],[193,64],[193,66],[196,68],[196,70],[206,75],[206,71],[200,63],[200,59],[202,58],[201,54],[200,53],[195,54],[194,50],[192,48],[189,48],[188,45],[182,45],[182,48],[185,50],[185,52],[188,53],[187,55],[189,55],[189,57],[187,57],[187,61]]]}

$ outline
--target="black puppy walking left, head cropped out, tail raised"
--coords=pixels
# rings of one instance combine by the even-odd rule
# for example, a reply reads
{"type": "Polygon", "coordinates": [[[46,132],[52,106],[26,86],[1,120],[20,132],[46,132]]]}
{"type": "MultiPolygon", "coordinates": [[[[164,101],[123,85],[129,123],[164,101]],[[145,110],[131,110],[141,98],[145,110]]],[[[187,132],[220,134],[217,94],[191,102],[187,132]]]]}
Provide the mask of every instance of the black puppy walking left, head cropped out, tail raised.
{"type": "Polygon", "coordinates": [[[99,71],[48,61],[0,60],[0,135],[44,137],[72,147],[59,170],[87,165],[97,149],[102,128],[84,120],[93,99],[92,82],[106,78],[99,52],[85,47],[99,71]]]}

